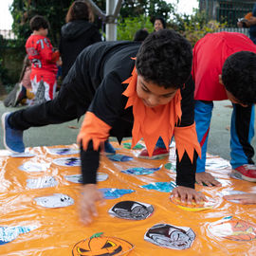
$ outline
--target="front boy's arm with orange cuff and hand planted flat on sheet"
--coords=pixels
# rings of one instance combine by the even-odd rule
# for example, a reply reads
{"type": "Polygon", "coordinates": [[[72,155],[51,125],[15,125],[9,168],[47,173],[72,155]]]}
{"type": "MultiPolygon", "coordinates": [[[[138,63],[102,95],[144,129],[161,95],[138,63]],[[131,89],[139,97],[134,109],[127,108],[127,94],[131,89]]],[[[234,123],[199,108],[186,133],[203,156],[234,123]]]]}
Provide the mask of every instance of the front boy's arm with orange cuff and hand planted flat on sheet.
{"type": "Polygon", "coordinates": [[[176,184],[177,188],[173,193],[175,197],[180,197],[183,203],[196,203],[206,200],[206,197],[194,190],[196,159],[201,154],[201,148],[197,140],[194,114],[193,114],[193,92],[194,84],[192,77],[181,89],[182,117],[179,124],[174,128],[176,143],[176,184]]]}

